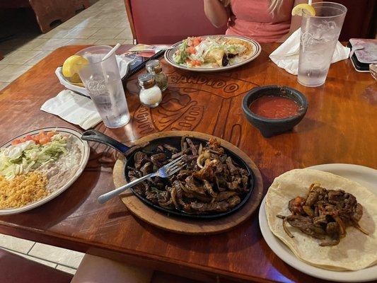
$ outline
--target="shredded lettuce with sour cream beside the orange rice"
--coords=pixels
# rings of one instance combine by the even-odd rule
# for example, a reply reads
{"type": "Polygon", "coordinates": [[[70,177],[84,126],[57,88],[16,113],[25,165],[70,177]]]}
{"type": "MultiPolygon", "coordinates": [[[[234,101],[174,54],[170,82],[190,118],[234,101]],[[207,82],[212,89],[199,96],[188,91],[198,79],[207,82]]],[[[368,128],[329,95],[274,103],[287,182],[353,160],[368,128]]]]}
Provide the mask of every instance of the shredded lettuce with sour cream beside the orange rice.
{"type": "Polygon", "coordinates": [[[22,144],[0,149],[0,175],[11,180],[16,175],[28,173],[42,164],[57,161],[67,152],[68,138],[55,134],[47,144],[25,141],[22,144]]]}

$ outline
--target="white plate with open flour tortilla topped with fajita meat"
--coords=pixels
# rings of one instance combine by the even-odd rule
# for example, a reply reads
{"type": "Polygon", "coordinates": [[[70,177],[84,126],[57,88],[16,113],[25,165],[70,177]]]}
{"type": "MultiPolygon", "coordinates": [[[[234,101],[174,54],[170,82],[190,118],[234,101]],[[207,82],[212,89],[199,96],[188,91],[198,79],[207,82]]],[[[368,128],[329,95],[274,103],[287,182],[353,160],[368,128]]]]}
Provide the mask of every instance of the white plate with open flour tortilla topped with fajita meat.
{"type": "Polygon", "coordinates": [[[376,183],[376,170],[349,164],[286,172],[262,201],[262,235],[279,258],[313,277],[377,279],[376,183]]]}

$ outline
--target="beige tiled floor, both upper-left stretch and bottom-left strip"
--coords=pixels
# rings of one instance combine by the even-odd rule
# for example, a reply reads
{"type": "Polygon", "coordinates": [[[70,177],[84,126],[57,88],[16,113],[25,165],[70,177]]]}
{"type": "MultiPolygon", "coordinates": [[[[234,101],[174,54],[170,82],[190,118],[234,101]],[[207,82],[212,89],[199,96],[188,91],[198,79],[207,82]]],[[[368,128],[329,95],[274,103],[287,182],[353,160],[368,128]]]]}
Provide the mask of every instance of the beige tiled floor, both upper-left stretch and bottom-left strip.
{"type": "MultiPolygon", "coordinates": [[[[100,0],[49,33],[17,30],[18,37],[0,42],[0,90],[50,52],[63,45],[132,44],[122,0],[100,0]]],[[[0,247],[30,260],[74,274],[83,253],[0,234],[0,247]]]]}

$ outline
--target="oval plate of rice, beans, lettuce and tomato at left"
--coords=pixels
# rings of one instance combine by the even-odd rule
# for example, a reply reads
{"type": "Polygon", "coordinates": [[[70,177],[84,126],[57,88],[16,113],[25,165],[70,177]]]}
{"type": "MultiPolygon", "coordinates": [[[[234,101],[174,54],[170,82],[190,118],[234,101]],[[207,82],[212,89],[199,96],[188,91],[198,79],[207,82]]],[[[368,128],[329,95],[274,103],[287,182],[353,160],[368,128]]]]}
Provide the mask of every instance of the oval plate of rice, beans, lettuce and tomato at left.
{"type": "Polygon", "coordinates": [[[79,178],[89,146],[74,129],[36,129],[0,148],[0,215],[25,212],[52,200],[79,178]]]}

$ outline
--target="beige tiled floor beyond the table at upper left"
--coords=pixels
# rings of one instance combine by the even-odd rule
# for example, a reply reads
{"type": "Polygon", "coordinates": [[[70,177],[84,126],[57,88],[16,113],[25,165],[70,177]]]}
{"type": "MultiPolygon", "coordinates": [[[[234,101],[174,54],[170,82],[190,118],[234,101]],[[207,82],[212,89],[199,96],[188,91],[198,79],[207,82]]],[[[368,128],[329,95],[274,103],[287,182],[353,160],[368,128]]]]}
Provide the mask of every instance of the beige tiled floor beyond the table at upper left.
{"type": "Polygon", "coordinates": [[[37,28],[25,25],[21,28],[26,30],[13,31],[15,38],[0,42],[4,54],[0,60],[0,90],[58,47],[132,44],[122,0],[97,1],[49,33],[40,34],[37,28]]]}

